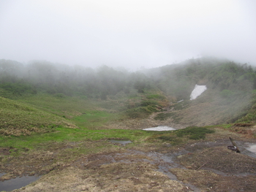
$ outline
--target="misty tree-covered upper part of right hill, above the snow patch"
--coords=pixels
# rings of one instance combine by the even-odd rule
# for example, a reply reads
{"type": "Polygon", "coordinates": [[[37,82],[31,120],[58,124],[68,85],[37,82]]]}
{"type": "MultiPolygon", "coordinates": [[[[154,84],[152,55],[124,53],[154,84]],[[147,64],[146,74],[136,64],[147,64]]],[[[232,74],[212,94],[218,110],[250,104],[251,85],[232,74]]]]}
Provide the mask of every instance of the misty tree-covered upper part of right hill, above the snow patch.
{"type": "Polygon", "coordinates": [[[256,89],[255,67],[217,58],[189,59],[148,69],[147,75],[162,91],[176,96],[177,101],[190,99],[196,84],[220,91],[223,97],[256,89]]]}

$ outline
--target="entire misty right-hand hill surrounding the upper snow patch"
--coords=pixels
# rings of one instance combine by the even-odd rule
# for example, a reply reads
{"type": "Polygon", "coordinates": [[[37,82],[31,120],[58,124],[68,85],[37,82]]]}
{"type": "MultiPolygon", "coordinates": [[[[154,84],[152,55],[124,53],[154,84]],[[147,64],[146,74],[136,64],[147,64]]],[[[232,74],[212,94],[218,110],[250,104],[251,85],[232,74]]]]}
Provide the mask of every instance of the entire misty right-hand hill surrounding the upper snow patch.
{"type": "MultiPolygon", "coordinates": [[[[173,96],[168,114],[174,123],[184,126],[207,126],[234,123],[246,115],[255,103],[256,71],[247,64],[217,58],[197,58],[149,69],[157,87],[166,95],[173,96]],[[190,93],[197,85],[206,85],[197,99],[189,101],[190,93]]],[[[247,118],[252,120],[254,109],[247,118]],[[250,117],[250,118],[249,118],[250,117]]],[[[161,114],[159,114],[161,116],[161,114]]]]}

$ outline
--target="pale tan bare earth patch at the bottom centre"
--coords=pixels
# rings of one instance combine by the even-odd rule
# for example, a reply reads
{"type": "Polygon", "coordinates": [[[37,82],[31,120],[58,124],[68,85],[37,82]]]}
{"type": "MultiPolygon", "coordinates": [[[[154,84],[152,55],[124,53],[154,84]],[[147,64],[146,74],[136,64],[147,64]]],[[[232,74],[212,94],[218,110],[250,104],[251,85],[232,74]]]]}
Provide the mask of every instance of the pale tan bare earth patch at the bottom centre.
{"type": "Polygon", "coordinates": [[[123,149],[85,155],[15,191],[192,191],[189,185],[170,180],[166,173],[172,163],[165,158],[160,153],[123,149]],[[161,165],[165,172],[159,171],[161,165]]]}

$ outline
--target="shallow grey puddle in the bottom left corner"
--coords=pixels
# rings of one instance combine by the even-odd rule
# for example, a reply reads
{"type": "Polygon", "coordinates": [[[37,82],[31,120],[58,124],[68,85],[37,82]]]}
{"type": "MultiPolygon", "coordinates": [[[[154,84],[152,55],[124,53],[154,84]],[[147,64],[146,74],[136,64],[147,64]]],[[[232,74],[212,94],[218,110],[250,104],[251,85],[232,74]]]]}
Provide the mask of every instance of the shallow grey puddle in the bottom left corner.
{"type": "MultiPolygon", "coordinates": [[[[3,176],[3,174],[1,174],[1,176],[3,176]]],[[[22,188],[38,179],[39,177],[37,176],[23,176],[11,180],[0,181],[0,191],[12,191],[22,188]]]]}

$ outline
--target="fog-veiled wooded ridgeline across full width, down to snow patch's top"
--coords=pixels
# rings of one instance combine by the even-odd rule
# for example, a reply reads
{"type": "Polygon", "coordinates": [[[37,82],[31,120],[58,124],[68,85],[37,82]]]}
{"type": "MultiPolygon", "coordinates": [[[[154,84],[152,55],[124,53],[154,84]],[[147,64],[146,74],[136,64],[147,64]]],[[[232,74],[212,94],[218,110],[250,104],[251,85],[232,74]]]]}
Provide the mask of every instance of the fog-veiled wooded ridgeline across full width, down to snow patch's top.
{"type": "Polygon", "coordinates": [[[56,96],[86,96],[107,99],[117,93],[144,93],[154,89],[176,97],[189,99],[197,85],[222,91],[223,97],[237,91],[248,92],[256,88],[255,68],[247,64],[217,58],[189,59],[140,72],[127,72],[108,66],[98,69],[67,66],[48,61],[0,60],[0,96],[50,93],[56,96]]]}

